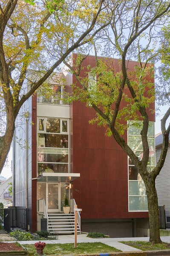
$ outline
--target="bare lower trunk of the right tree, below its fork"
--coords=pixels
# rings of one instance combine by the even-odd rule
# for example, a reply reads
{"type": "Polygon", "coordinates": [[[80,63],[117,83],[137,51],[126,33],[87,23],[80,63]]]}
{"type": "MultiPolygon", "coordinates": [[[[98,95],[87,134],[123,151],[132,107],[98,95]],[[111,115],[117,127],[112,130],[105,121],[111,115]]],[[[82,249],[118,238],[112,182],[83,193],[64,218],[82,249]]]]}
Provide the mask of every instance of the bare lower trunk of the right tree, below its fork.
{"type": "Polygon", "coordinates": [[[161,243],[159,230],[159,210],[158,197],[156,192],[155,180],[150,180],[146,186],[148,212],[149,212],[149,228],[150,228],[150,242],[161,243]]]}

